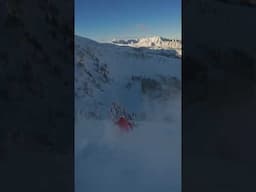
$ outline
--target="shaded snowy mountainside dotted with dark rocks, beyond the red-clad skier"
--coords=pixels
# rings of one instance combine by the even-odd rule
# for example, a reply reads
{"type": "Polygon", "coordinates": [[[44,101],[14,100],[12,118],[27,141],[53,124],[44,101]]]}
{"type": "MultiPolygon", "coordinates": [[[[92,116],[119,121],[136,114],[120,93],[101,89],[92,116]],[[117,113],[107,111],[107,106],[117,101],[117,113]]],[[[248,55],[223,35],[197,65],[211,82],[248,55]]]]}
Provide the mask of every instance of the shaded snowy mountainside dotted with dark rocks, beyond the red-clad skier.
{"type": "Polygon", "coordinates": [[[96,102],[101,105],[98,115],[105,118],[113,101],[122,99],[131,107],[128,102],[132,100],[139,106],[142,80],[165,81],[171,87],[181,79],[181,60],[175,51],[99,44],[77,36],[75,42],[75,95],[85,101],[86,107],[77,106],[83,111],[86,108],[92,112],[89,103],[96,110],[96,102]],[[128,84],[131,88],[126,88],[128,84]]]}

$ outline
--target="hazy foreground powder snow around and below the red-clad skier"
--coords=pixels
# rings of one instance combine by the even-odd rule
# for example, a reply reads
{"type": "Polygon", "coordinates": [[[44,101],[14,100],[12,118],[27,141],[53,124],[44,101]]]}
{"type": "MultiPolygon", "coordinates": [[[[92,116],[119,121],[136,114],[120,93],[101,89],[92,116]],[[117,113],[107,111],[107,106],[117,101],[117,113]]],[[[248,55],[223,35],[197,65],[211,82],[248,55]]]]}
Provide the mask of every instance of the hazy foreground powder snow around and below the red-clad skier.
{"type": "Polygon", "coordinates": [[[181,191],[180,100],[179,94],[165,105],[145,103],[159,118],[138,122],[128,134],[107,120],[78,120],[76,191],[181,191]],[[163,121],[167,114],[172,118],[163,121]]]}

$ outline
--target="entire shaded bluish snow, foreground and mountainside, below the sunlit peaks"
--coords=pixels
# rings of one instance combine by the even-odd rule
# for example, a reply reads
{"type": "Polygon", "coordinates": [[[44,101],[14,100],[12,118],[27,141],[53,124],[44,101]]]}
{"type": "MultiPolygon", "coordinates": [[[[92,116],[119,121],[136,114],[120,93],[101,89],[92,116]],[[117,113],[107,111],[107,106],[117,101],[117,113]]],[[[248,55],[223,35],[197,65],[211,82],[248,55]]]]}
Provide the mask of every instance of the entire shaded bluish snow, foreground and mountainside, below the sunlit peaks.
{"type": "Polygon", "coordinates": [[[159,98],[151,98],[142,93],[140,80],[131,80],[136,76],[159,83],[163,77],[175,78],[180,83],[181,59],[173,50],[117,46],[75,36],[77,192],[181,191],[180,88],[170,81],[167,99],[164,89],[159,98]],[[108,80],[97,66],[107,68],[108,80]],[[113,101],[128,112],[145,113],[132,132],[120,132],[113,125],[109,114],[113,101]],[[85,115],[92,113],[96,115],[85,115]]]}

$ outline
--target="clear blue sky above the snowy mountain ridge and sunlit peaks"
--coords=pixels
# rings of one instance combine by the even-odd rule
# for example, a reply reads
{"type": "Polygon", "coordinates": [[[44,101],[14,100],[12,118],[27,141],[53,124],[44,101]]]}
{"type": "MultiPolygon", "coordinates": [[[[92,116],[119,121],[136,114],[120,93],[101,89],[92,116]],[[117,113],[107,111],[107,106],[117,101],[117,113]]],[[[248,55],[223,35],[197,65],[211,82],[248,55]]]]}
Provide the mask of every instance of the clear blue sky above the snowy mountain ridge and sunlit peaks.
{"type": "Polygon", "coordinates": [[[75,0],[75,34],[96,41],[181,39],[181,0],[75,0]]]}

